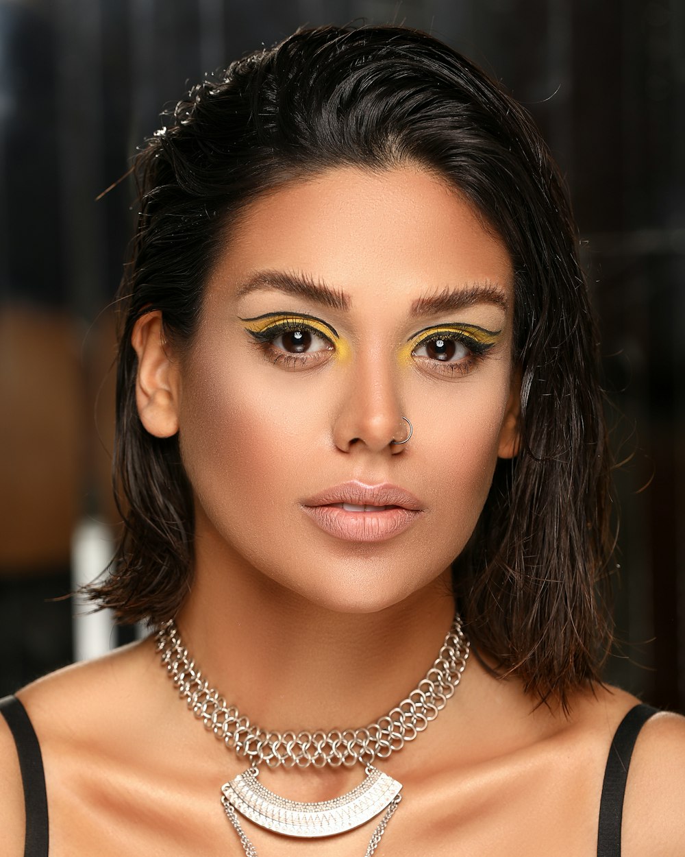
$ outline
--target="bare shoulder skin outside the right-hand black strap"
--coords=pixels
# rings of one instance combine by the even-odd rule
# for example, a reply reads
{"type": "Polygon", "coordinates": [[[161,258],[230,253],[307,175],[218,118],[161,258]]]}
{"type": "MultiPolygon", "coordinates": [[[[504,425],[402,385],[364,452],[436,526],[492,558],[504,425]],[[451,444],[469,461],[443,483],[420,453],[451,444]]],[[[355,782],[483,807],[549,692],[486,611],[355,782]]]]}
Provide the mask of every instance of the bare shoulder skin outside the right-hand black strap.
{"type": "Polygon", "coordinates": [[[685,717],[663,711],[640,730],[623,806],[625,857],[685,854],[685,717]]]}

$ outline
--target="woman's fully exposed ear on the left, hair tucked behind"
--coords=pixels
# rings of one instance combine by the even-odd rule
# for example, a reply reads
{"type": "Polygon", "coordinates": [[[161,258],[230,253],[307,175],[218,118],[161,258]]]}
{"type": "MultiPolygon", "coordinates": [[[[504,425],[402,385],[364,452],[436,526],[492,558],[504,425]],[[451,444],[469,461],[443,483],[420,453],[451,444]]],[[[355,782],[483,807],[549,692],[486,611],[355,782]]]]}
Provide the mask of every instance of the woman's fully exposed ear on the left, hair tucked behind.
{"type": "Polygon", "coordinates": [[[171,437],[178,431],[180,380],[159,310],[141,315],[135,322],[131,345],[138,355],[135,402],[140,422],[155,437],[171,437]]]}

